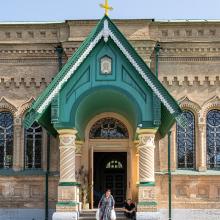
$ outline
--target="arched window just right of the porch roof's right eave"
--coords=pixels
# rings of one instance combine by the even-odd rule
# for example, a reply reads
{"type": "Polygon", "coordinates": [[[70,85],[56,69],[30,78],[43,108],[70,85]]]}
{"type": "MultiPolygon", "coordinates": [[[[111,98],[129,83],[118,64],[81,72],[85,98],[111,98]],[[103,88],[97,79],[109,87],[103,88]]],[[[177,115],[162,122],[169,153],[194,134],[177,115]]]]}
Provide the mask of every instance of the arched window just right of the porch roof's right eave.
{"type": "Polygon", "coordinates": [[[177,124],[177,166],[190,169],[195,165],[195,118],[192,112],[183,113],[188,121],[187,128],[177,124]]]}

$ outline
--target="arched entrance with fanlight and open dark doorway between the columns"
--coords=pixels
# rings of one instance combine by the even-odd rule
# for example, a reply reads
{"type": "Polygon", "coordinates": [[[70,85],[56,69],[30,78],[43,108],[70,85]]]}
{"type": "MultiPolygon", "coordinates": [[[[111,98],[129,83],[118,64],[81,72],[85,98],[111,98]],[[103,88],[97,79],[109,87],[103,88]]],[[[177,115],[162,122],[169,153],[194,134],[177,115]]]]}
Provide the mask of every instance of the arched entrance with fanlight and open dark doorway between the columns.
{"type": "Polygon", "coordinates": [[[116,207],[130,196],[132,129],[122,116],[109,112],[91,120],[87,126],[90,151],[91,205],[97,207],[106,189],[111,189],[116,207]]]}

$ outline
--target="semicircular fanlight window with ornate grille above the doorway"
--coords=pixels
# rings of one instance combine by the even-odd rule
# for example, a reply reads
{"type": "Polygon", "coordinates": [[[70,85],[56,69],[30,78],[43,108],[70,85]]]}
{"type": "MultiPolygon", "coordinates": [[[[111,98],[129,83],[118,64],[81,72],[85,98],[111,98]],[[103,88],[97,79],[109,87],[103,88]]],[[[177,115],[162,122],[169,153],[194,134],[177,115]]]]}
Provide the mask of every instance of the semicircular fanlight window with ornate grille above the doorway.
{"type": "Polygon", "coordinates": [[[128,138],[128,130],[121,121],[115,118],[102,118],[92,126],[89,137],[93,139],[125,139],[128,138]]]}

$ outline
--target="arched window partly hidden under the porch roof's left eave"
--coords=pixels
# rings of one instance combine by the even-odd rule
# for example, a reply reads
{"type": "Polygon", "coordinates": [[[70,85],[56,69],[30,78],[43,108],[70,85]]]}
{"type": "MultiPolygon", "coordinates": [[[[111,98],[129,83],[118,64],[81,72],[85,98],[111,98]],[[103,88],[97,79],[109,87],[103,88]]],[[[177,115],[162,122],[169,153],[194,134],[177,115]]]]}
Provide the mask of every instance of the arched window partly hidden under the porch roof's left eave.
{"type": "Polygon", "coordinates": [[[42,127],[34,124],[25,130],[25,168],[41,168],[42,127]]]}

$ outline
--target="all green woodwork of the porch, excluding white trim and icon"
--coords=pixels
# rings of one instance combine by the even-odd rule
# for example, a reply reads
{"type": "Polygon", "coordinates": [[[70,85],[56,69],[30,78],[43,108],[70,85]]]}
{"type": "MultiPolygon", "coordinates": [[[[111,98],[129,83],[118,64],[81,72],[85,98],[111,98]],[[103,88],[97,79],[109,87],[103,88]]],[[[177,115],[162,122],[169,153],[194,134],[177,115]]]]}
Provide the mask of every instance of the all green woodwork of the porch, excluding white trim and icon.
{"type": "Polygon", "coordinates": [[[142,124],[143,128],[159,127],[161,136],[167,133],[174,123],[175,117],[181,114],[181,109],[174,98],[107,16],[103,17],[50,85],[33,103],[25,117],[24,125],[28,128],[34,121],[38,121],[51,134],[56,134],[56,129],[60,128],[76,128],[79,132],[78,137],[82,139],[88,121],[102,112],[116,112],[123,115],[130,121],[133,129],[136,129],[139,124],[142,124]],[[107,42],[104,42],[103,38],[98,42],[72,77],[61,87],[59,94],[48,103],[46,109],[42,113],[37,112],[49,94],[54,91],[61,79],[102,30],[105,20],[108,21],[109,29],[135,59],[153,86],[163,94],[166,102],[174,109],[173,114],[161,104],[159,97],[152,92],[110,37],[107,42]],[[108,56],[112,61],[112,72],[109,75],[102,75],[100,71],[100,60],[104,56],[108,56]]]}

